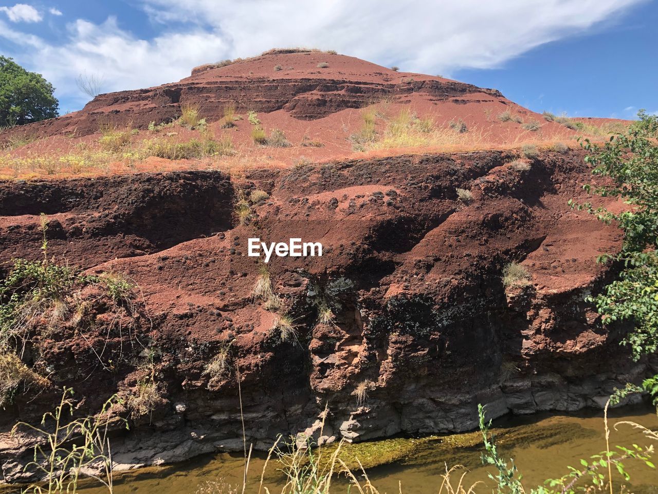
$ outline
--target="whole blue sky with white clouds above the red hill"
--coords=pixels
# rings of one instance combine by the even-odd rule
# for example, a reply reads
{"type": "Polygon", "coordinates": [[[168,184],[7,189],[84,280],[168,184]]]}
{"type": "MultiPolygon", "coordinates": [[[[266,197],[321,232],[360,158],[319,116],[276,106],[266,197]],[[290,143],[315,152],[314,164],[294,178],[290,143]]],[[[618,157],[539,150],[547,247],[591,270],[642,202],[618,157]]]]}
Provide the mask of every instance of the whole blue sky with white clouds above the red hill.
{"type": "Polygon", "coordinates": [[[0,55],[55,86],[61,113],[273,47],[334,49],[496,88],[534,111],[658,113],[658,0],[0,0],[0,55]]]}

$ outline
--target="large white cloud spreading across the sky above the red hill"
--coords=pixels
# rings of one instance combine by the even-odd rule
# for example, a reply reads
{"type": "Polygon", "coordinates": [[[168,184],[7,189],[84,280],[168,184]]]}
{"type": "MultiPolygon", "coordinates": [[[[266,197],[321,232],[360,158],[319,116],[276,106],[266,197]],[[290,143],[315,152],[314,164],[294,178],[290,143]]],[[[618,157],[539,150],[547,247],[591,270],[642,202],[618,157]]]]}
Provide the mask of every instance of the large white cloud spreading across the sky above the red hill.
{"type": "Polygon", "coordinates": [[[19,61],[51,80],[59,97],[80,104],[85,98],[76,88],[79,74],[103,78],[106,91],[143,88],[186,77],[201,63],[272,47],[336,49],[430,74],[496,67],[640,1],[141,0],[162,26],[156,38],[141,39],[111,17],[102,24],[75,20],[60,45],[3,29],[0,21],[0,40],[16,43],[19,61]]]}

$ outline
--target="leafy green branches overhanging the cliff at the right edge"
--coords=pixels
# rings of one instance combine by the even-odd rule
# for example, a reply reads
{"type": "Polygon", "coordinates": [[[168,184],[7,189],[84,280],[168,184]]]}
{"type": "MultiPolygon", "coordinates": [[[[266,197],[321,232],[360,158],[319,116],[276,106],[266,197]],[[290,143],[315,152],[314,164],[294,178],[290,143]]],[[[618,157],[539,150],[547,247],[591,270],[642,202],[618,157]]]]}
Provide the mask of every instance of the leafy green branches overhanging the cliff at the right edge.
{"type": "MultiPolygon", "coordinates": [[[[619,277],[591,297],[603,323],[628,321],[632,329],[622,344],[633,358],[653,354],[658,348],[658,117],[638,113],[639,121],[624,133],[615,134],[603,146],[585,140],[590,154],[586,161],[594,175],[606,177],[608,184],[584,186],[602,197],[623,200],[626,207],[613,213],[590,203],[572,207],[586,209],[601,221],[616,223],[624,231],[624,244],[618,254],[599,256],[601,262],[617,262],[619,277]]],[[[656,378],[647,379],[645,389],[656,395],[656,378]]]]}

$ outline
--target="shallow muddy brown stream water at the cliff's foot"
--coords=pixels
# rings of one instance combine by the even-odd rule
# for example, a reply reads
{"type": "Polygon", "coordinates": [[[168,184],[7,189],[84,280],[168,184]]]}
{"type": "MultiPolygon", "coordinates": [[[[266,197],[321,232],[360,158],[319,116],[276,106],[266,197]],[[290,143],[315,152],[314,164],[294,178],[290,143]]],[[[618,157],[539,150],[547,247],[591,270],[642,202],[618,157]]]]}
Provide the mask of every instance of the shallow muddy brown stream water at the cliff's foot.
{"type": "MultiPolygon", "coordinates": [[[[650,408],[626,408],[621,413],[611,414],[611,425],[622,420],[658,428],[658,419],[650,408]]],[[[494,423],[499,451],[509,458],[514,457],[523,483],[535,487],[545,478],[559,477],[568,472],[567,466],[578,466],[580,458],[586,458],[605,449],[602,413],[578,416],[535,415],[524,418],[503,418],[494,423]]],[[[419,439],[389,439],[362,445],[346,445],[342,457],[350,461],[357,455],[371,466],[367,468],[370,481],[380,493],[436,494],[440,486],[445,463],[449,466],[463,464],[470,470],[466,481],[484,481],[479,493],[490,493],[493,482],[487,478],[488,470],[480,464],[481,445],[479,433],[467,433],[443,437],[419,439]],[[401,487],[400,487],[401,486],[401,487]]],[[[611,445],[649,444],[638,431],[628,425],[611,430],[611,445]]],[[[658,444],[656,445],[658,447],[658,444]]],[[[654,458],[655,460],[655,458],[654,458]]],[[[246,491],[258,491],[265,456],[251,459],[249,481],[246,491]]],[[[658,463],[658,462],[657,462],[658,463]]],[[[632,478],[624,482],[630,492],[636,494],[658,494],[658,472],[644,464],[629,460],[628,471],[632,478]]],[[[270,492],[280,492],[282,477],[276,471],[276,462],[270,462],[265,474],[265,485],[270,492]]],[[[124,474],[116,480],[116,494],[193,494],[206,481],[224,480],[234,486],[241,485],[243,458],[237,454],[204,456],[166,468],[151,468],[134,474],[124,474]]],[[[336,480],[332,489],[346,493],[345,480],[336,480]]],[[[84,489],[85,494],[100,494],[101,489],[84,489]]],[[[201,492],[201,491],[199,491],[201,492]]],[[[616,489],[619,492],[619,489],[616,489]]],[[[203,494],[220,494],[217,490],[203,494]]]]}

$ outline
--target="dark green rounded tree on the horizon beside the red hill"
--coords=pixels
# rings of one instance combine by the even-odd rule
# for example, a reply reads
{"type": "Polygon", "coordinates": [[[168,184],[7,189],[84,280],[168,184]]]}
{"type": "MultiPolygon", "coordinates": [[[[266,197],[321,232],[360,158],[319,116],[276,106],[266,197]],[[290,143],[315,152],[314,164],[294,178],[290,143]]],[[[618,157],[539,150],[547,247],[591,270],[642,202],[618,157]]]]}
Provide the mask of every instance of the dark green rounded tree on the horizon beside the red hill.
{"type": "Polygon", "coordinates": [[[0,126],[22,125],[57,117],[59,101],[53,85],[0,56],[0,126]]]}

